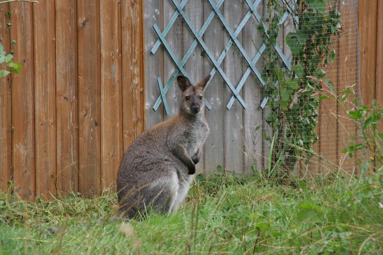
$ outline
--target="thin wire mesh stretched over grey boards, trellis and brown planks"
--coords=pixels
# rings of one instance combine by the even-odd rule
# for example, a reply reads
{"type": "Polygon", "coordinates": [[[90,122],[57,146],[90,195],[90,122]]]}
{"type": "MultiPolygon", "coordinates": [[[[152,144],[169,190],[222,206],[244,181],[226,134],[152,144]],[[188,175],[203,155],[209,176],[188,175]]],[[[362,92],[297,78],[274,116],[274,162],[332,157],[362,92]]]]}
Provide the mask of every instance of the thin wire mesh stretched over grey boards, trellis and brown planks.
{"type": "MultiPolygon", "coordinates": [[[[163,54],[162,68],[154,76],[161,78],[167,102],[164,104],[157,93],[158,98],[154,98],[157,101],[152,105],[155,111],[149,112],[147,118],[160,114],[166,120],[178,113],[181,100],[175,82],[178,74],[187,76],[192,83],[211,74],[205,93],[206,119],[211,131],[200,161],[203,171],[224,169],[242,175],[288,168],[285,169],[288,174],[301,177],[337,170],[358,172],[355,158],[341,152],[355,142],[358,132],[344,112],[361,98],[357,0],[331,0],[320,6],[293,0],[169,0],[164,1],[163,8],[163,24],[153,26],[159,39],[152,53],[154,57],[163,54]],[[316,18],[312,24],[304,23],[308,14],[316,18]],[[323,32],[321,22],[327,18],[332,19],[328,24],[334,27],[323,32]],[[304,28],[310,33],[302,40],[319,43],[329,40],[331,43],[323,43],[328,48],[291,49],[291,35],[302,30],[303,24],[310,26],[304,28]],[[303,52],[300,58],[296,57],[298,51],[303,52]],[[327,60],[318,52],[327,52],[327,60]],[[303,65],[302,61],[319,62],[319,69],[325,73],[319,75],[321,82],[306,77],[309,74],[306,65],[297,76],[295,66],[303,65]],[[282,70],[283,75],[279,80],[270,78],[269,69],[282,70]],[[302,75],[318,93],[304,91],[302,75]],[[298,87],[290,87],[287,98],[283,98],[284,84],[295,81],[298,87]],[[349,88],[352,93],[344,100],[344,107],[331,95],[323,97],[326,93],[341,97],[349,88]],[[277,91],[274,96],[272,90],[277,91]],[[315,114],[305,116],[300,105],[310,105],[309,102],[313,102],[315,114]],[[273,105],[282,109],[278,114],[295,114],[303,123],[308,117],[310,124],[318,121],[315,134],[308,137],[310,133],[305,131],[308,127],[297,121],[294,132],[301,137],[291,140],[286,131],[291,123],[283,124],[283,116],[278,119],[279,115],[270,120],[273,115],[270,111],[276,108],[270,107],[273,105]],[[300,146],[299,140],[311,142],[312,150],[308,152],[303,144],[300,146]]],[[[154,83],[157,81],[149,81],[154,83]]]]}

